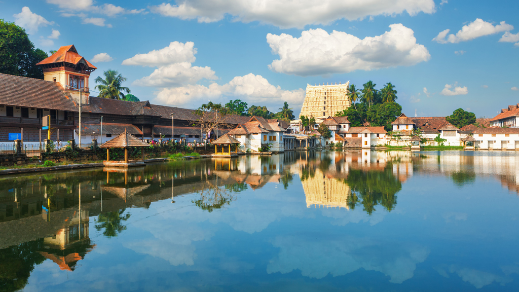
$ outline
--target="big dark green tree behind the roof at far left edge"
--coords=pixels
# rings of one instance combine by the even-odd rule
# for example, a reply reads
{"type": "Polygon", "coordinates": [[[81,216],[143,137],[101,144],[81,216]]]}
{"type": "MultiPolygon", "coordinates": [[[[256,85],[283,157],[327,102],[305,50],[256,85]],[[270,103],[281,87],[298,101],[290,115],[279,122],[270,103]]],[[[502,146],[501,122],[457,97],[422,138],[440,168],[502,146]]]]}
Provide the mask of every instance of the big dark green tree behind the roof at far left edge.
{"type": "Polygon", "coordinates": [[[43,79],[36,63],[47,57],[46,52],[34,48],[24,29],[0,19],[0,73],[43,79]]]}

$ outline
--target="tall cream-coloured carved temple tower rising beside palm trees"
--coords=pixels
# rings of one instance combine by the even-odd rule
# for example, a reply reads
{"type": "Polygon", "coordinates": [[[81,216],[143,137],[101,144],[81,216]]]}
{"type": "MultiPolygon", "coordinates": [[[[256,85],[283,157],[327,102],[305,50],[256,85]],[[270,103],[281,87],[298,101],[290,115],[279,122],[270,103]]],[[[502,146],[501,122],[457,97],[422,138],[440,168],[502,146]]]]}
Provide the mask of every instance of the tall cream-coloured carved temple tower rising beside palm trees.
{"type": "Polygon", "coordinates": [[[348,87],[345,84],[326,84],[311,86],[307,84],[305,101],[301,108],[301,115],[306,117],[326,118],[350,107],[348,87]]]}

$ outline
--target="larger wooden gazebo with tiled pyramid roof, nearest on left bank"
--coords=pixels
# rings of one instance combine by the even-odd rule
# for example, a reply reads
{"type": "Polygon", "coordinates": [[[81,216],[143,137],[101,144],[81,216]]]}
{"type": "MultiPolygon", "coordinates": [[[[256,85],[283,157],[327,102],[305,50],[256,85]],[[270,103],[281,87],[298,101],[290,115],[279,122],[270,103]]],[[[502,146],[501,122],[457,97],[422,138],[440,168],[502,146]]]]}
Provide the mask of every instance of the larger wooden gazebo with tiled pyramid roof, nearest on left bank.
{"type": "Polygon", "coordinates": [[[149,147],[149,144],[144,143],[143,141],[135,138],[133,135],[126,132],[126,129],[119,136],[114,139],[105,142],[100,146],[101,148],[106,148],[106,161],[103,161],[105,166],[116,166],[116,167],[130,167],[130,166],[140,166],[144,165],[144,149],[142,149],[142,159],[141,161],[129,161],[128,160],[128,147],[149,147]],[[110,148],[124,148],[125,149],[125,161],[110,161],[110,148]]]}

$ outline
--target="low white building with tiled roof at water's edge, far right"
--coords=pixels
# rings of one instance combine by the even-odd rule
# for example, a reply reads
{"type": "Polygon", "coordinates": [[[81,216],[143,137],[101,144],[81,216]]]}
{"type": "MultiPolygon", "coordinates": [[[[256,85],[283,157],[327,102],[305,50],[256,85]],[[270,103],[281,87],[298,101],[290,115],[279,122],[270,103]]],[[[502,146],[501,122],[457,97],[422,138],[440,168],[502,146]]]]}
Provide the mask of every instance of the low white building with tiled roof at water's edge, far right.
{"type": "Polygon", "coordinates": [[[478,128],[472,132],[474,145],[486,150],[519,149],[519,128],[478,128]]]}

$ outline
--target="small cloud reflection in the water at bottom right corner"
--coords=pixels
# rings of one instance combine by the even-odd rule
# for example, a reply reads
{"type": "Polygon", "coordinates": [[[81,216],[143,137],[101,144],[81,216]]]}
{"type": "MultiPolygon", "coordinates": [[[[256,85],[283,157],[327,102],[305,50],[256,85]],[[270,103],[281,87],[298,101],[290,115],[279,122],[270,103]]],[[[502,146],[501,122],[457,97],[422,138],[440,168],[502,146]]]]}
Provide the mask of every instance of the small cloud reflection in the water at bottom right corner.
{"type": "Polygon", "coordinates": [[[435,267],[434,270],[436,270],[440,275],[446,278],[449,277],[448,273],[456,273],[458,276],[461,277],[461,280],[472,284],[477,289],[483,288],[486,285],[490,285],[493,282],[499,283],[501,285],[512,282],[511,278],[502,277],[493,273],[479,271],[470,268],[460,268],[455,266],[454,264],[448,267],[448,273],[446,269],[441,267],[435,267]]]}

